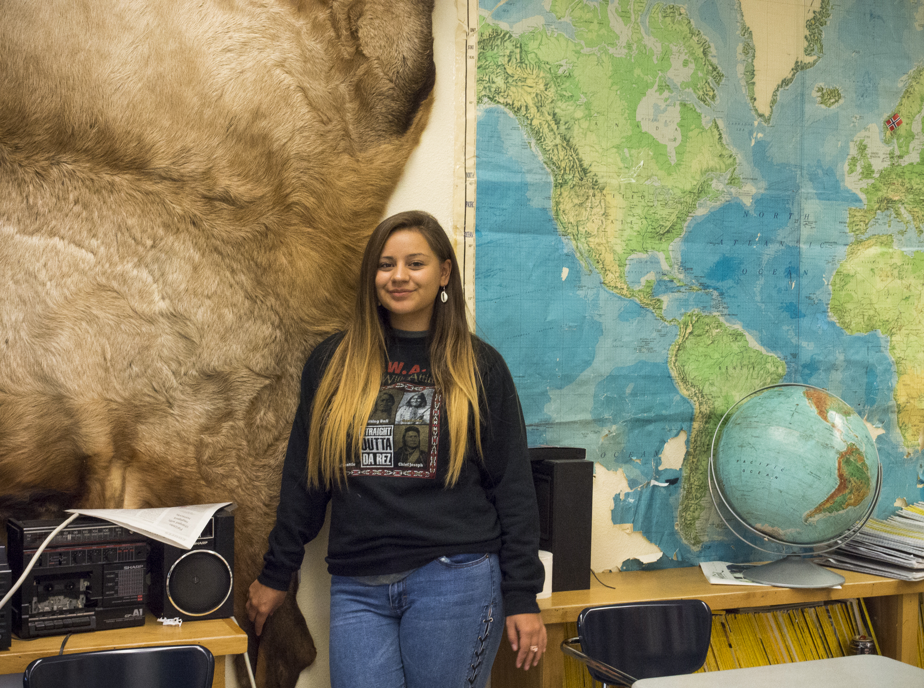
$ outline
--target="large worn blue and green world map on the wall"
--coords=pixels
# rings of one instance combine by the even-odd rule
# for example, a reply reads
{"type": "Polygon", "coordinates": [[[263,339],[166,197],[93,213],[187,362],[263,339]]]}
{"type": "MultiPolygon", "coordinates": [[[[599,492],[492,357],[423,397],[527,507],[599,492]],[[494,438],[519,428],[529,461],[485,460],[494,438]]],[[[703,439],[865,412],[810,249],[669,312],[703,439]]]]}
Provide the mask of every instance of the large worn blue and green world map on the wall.
{"type": "Polygon", "coordinates": [[[920,0],[487,0],[477,54],[478,328],[597,462],[592,568],[759,557],[706,470],[777,382],[866,420],[878,516],[924,499],[920,0]]]}

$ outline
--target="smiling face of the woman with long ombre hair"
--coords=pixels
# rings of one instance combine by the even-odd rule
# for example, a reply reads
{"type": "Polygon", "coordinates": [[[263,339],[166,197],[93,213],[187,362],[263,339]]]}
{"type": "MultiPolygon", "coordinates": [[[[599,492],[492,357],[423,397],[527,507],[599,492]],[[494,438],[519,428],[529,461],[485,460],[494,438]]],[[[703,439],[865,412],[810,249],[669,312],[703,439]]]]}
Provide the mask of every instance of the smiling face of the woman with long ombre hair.
{"type": "Polygon", "coordinates": [[[442,263],[418,231],[399,229],[385,241],[375,273],[375,292],[396,330],[429,329],[441,286],[449,284],[452,261],[442,263]]]}

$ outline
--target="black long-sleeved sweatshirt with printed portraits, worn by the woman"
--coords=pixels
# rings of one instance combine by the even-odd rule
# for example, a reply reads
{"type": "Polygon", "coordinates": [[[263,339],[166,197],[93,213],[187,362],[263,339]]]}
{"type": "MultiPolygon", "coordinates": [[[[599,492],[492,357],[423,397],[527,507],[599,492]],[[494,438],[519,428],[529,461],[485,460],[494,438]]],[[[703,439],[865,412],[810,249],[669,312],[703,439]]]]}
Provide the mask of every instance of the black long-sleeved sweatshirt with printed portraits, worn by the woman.
{"type": "Polygon", "coordinates": [[[473,338],[484,392],[481,448],[468,430],[458,482],[444,487],[449,431],[442,393],[429,371],[427,338],[390,335],[388,370],[343,488],[307,487],[310,411],[324,369],[343,334],[319,344],[301,376],[301,400],[283,467],[276,524],[259,580],[288,589],[305,543],[321,530],[331,501],[327,570],[380,575],[415,569],[451,554],[496,552],[507,616],[539,611],[544,576],[537,553],[539,513],[526,428],[510,371],[491,346],[473,338]]]}

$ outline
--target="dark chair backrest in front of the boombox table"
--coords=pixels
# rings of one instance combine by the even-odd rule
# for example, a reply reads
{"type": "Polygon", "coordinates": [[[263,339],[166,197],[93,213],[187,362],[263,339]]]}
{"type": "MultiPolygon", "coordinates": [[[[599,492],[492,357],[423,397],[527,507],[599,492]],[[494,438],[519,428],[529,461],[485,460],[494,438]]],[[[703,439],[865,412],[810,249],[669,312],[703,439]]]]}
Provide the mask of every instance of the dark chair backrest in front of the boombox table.
{"type": "MultiPolygon", "coordinates": [[[[33,661],[25,688],[211,688],[215,660],[201,645],[127,647],[33,661]]],[[[224,667],[222,668],[224,670],[224,667]]]]}

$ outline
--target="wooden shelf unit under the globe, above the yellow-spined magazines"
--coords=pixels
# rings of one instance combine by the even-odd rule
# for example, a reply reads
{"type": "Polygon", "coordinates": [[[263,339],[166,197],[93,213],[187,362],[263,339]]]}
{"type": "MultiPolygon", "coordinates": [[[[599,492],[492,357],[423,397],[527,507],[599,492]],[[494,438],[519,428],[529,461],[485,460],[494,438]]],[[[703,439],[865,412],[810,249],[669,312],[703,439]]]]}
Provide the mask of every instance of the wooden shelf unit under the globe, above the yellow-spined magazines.
{"type": "Polygon", "coordinates": [[[577,621],[585,607],[642,602],[653,599],[701,599],[713,610],[770,607],[847,597],[866,597],[873,628],[886,657],[913,664],[918,656],[918,593],[924,582],[909,583],[868,573],[840,571],[845,584],[839,588],[795,589],[754,585],[710,585],[699,566],[661,571],[598,573],[605,587],[591,577],[589,590],[553,593],[539,600],[549,645],[539,666],[524,672],[514,666],[514,655],[501,643],[492,670],[493,688],[561,688],[565,623],[577,621]]]}

